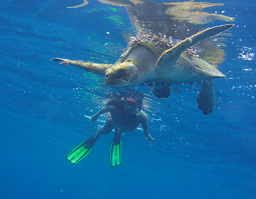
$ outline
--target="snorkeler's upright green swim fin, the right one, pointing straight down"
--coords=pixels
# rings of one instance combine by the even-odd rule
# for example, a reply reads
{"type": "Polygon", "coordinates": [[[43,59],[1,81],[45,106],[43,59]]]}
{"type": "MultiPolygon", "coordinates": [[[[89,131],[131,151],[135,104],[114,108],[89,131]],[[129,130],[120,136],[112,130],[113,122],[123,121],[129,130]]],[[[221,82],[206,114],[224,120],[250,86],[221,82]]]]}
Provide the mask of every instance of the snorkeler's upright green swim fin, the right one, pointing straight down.
{"type": "Polygon", "coordinates": [[[117,167],[122,163],[122,140],[120,134],[115,134],[110,147],[110,166],[117,167]]]}

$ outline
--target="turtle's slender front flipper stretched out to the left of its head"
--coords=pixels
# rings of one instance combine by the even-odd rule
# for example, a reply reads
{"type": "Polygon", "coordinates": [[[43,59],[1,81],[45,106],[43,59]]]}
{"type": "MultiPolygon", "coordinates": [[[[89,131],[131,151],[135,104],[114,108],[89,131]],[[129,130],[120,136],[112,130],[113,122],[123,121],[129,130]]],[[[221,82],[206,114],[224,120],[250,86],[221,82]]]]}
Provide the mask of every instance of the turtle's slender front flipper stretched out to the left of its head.
{"type": "Polygon", "coordinates": [[[68,59],[62,59],[62,58],[53,58],[52,61],[59,61],[60,64],[65,64],[67,67],[68,64],[75,65],[75,67],[79,67],[84,69],[86,72],[96,73],[105,75],[106,69],[112,67],[112,64],[95,64],[92,62],[84,62],[84,61],[73,61],[68,59]]]}

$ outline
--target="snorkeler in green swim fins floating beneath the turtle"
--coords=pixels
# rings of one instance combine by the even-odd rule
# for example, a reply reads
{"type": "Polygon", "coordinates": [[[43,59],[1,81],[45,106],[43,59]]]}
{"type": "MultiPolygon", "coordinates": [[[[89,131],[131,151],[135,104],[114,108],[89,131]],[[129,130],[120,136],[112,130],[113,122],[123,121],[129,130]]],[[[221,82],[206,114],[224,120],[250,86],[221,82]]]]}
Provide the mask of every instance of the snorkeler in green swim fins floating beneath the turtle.
{"type": "Polygon", "coordinates": [[[147,114],[141,110],[142,100],[133,97],[122,97],[120,99],[110,99],[106,106],[92,116],[92,121],[96,122],[101,114],[108,113],[104,126],[93,134],[89,139],[85,140],[79,146],[74,148],[66,156],[67,159],[77,164],[92,150],[94,143],[102,134],[108,134],[115,128],[115,135],[110,147],[110,166],[115,167],[121,164],[122,141],[121,135],[125,131],[133,131],[142,125],[146,140],[154,140],[148,134],[147,114]]]}

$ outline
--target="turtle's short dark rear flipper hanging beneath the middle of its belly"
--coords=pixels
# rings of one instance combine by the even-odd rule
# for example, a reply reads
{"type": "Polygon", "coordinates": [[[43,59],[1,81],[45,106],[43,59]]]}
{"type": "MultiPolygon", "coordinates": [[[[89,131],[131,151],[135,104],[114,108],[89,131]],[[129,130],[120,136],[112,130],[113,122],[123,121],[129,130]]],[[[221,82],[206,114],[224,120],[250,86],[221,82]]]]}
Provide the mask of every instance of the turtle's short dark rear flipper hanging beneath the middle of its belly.
{"type": "Polygon", "coordinates": [[[152,93],[157,98],[168,98],[171,96],[171,84],[168,82],[155,82],[152,93]]]}

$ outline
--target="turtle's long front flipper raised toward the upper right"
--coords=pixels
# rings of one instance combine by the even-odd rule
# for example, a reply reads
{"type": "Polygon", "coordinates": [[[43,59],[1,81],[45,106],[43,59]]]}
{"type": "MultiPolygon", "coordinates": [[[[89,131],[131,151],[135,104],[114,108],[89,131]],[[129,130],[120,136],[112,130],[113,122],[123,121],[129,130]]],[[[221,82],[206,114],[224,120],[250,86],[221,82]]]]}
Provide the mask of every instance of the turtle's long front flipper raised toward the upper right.
{"type": "Polygon", "coordinates": [[[223,26],[208,28],[207,30],[201,31],[196,35],[193,35],[190,38],[183,40],[174,47],[167,49],[156,61],[156,72],[160,74],[169,72],[170,69],[176,64],[176,61],[179,59],[181,53],[185,51],[185,49],[190,48],[200,42],[203,42],[203,40],[208,39],[214,35],[229,30],[233,26],[234,24],[226,24],[223,26]]]}

